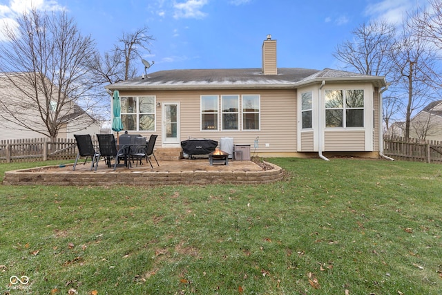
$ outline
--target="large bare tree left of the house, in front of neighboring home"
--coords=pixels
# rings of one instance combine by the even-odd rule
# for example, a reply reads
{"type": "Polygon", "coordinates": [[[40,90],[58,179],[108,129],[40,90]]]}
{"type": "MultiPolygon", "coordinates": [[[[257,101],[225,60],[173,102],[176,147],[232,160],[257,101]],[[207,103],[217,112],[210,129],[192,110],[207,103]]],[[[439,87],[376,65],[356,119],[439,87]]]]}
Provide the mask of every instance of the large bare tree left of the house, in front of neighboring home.
{"type": "Polygon", "coordinates": [[[10,87],[0,99],[3,120],[48,137],[70,122],[93,122],[86,113],[97,104],[88,99],[95,84],[86,70],[93,39],[64,11],[32,9],[17,22],[0,28],[8,38],[0,43],[1,83],[10,87]]]}

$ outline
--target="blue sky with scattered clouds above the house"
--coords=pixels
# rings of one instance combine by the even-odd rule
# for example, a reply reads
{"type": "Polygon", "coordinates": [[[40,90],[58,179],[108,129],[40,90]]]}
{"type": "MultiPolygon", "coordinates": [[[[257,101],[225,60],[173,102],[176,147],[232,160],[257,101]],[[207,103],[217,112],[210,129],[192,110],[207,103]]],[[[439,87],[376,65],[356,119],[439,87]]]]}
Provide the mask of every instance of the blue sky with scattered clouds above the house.
{"type": "MultiPolygon", "coordinates": [[[[182,68],[260,68],[262,41],[278,41],[278,67],[338,68],[334,49],[363,21],[399,23],[427,0],[0,0],[0,20],[31,5],[66,9],[100,51],[122,32],[148,26],[150,72],[182,68]],[[32,4],[31,4],[32,3],[32,4]]],[[[0,21],[1,26],[1,21],[0,21]]],[[[0,36],[1,40],[1,36],[0,36]]],[[[140,73],[144,70],[140,61],[140,73]]]]}

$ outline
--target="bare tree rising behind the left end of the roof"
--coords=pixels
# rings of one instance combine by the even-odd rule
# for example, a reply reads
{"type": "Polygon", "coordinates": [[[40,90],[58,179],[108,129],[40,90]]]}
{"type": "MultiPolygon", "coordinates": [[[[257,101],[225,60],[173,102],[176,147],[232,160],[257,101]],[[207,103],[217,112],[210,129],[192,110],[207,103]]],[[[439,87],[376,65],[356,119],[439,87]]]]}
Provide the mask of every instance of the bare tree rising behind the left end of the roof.
{"type": "Polygon", "coordinates": [[[142,50],[150,53],[150,41],[154,40],[148,35],[148,27],[144,26],[132,33],[124,32],[115,44],[115,48],[104,55],[96,53],[90,61],[90,70],[103,84],[127,80],[139,75],[135,59],[142,57],[142,50]]]}

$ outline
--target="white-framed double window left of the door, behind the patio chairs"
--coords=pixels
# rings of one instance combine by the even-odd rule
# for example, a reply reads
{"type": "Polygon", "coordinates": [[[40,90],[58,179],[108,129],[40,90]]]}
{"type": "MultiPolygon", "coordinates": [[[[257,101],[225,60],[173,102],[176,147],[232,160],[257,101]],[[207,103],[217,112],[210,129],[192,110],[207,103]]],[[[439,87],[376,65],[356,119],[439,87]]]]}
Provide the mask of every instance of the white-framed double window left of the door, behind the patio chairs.
{"type": "Polygon", "coordinates": [[[155,96],[121,97],[125,130],[155,131],[155,96]]]}

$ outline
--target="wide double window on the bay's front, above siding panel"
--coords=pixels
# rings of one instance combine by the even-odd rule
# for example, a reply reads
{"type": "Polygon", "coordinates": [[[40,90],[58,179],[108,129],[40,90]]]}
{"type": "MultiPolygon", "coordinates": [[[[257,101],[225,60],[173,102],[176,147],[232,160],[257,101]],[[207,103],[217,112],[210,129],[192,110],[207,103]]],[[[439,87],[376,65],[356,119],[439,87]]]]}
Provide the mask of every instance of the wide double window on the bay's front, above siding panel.
{"type": "Polygon", "coordinates": [[[363,90],[326,90],[325,126],[363,127],[363,90]]]}

